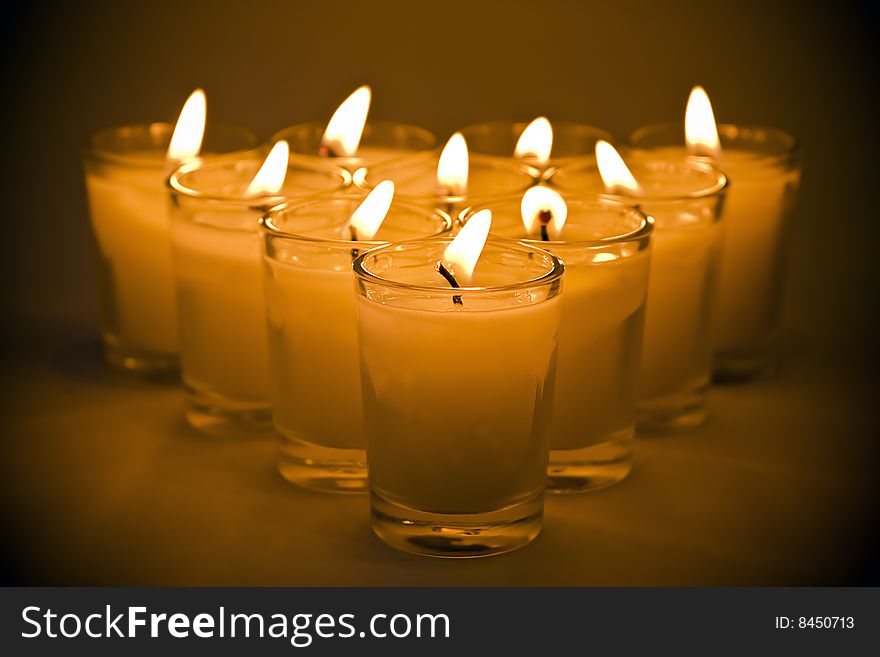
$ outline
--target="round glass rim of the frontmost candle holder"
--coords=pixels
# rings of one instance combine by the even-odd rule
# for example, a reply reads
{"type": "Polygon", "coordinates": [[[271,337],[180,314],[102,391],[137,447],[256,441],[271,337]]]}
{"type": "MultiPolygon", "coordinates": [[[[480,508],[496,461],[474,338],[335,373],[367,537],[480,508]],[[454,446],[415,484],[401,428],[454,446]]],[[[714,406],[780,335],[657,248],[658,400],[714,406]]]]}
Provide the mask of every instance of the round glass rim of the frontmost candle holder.
{"type": "MultiPolygon", "coordinates": [[[[533,255],[535,253],[540,254],[541,256],[547,257],[550,259],[551,267],[548,271],[544,272],[540,276],[536,276],[535,278],[530,278],[526,281],[517,281],[516,283],[506,283],[504,285],[463,285],[461,287],[451,287],[450,285],[442,285],[438,283],[437,285],[414,285],[412,283],[404,283],[402,281],[396,281],[390,278],[384,278],[378,274],[374,274],[370,270],[368,270],[364,266],[364,261],[370,257],[376,257],[381,255],[383,252],[389,249],[395,249],[397,251],[401,250],[413,250],[417,248],[423,248],[425,244],[439,244],[441,242],[451,243],[455,237],[453,236],[436,236],[423,238],[419,240],[411,240],[407,242],[390,242],[388,244],[384,244],[382,246],[369,249],[364,251],[354,259],[351,264],[352,271],[354,272],[355,277],[363,279],[366,282],[374,283],[376,285],[384,285],[385,287],[391,287],[398,290],[408,290],[411,292],[430,292],[430,293],[443,293],[443,294],[464,294],[465,296],[468,294],[487,294],[487,293],[503,293],[503,292],[514,292],[516,290],[522,290],[535,286],[544,286],[548,284],[552,284],[555,281],[558,281],[562,278],[562,275],[565,273],[565,264],[562,262],[562,259],[547,251],[546,249],[535,248],[531,244],[528,244],[524,240],[513,240],[511,242],[507,242],[506,240],[498,239],[495,236],[490,234],[489,238],[486,240],[486,246],[499,246],[504,247],[505,249],[512,249],[515,251],[519,251],[521,253],[528,253],[529,255],[533,255]]],[[[530,304],[533,305],[533,304],[530,304]]],[[[479,311],[478,311],[479,312],[479,311]]]]}

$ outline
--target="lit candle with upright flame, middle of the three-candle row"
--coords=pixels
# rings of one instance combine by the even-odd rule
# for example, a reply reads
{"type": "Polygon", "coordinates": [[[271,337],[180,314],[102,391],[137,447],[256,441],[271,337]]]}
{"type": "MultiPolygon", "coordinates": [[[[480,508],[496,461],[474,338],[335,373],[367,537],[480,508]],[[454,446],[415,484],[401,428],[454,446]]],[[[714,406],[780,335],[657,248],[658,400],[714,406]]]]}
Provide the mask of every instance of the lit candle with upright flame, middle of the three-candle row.
{"type": "Polygon", "coordinates": [[[522,193],[532,177],[508,160],[470,157],[467,142],[456,132],[440,153],[417,153],[372,167],[360,181],[393,180],[397,195],[414,203],[433,204],[453,218],[467,205],[522,193]]]}

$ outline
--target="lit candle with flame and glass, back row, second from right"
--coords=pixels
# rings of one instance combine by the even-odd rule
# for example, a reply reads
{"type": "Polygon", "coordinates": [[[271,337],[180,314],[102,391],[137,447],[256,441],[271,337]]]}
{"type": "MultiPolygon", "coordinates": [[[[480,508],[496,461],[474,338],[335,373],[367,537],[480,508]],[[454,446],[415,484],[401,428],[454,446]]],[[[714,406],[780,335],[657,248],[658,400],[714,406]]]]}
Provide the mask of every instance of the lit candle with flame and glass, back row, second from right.
{"type": "Polygon", "coordinates": [[[530,123],[489,121],[464,128],[461,133],[471,152],[491,159],[520,163],[533,180],[549,182],[560,166],[594,160],[596,142],[611,140],[604,130],[583,123],[551,123],[539,116],[530,123]]]}

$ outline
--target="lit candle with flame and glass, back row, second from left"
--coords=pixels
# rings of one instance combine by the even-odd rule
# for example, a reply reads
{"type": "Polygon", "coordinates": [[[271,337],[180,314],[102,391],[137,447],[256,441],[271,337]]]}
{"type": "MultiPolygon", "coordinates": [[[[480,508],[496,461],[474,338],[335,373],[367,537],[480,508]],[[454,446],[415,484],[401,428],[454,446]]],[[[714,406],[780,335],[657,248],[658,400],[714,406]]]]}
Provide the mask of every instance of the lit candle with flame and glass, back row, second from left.
{"type": "Polygon", "coordinates": [[[328,159],[355,174],[355,182],[377,162],[413,151],[427,151],[436,138],[430,132],[405,123],[367,121],[372,101],[370,87],[358,87],[334,112],[326,127],[302,123],[285,128],[273,139],[290,143],[297,158],[328,159]]]}

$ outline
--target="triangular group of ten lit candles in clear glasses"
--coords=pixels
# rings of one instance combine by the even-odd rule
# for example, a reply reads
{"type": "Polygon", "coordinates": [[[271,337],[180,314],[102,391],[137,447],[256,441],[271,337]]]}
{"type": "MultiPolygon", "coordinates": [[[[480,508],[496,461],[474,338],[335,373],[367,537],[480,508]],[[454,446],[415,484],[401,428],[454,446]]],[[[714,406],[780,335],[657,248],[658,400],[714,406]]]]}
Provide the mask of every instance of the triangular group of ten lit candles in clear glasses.
{"type": "Polygon", "coordinates": [[[620,481],[637,425],[695,426],[713,375],[767,367],[790,136],[716,126],[695,87],[683,135],[623,156],[544,117],[438,152],[370,100],[268,153],[201,90],[175,126],[97,134],[108,362],[179,368],[196,429],[274,430],[285,478],[369,489],[375,532],[433,556],[527,544],[545,491],[620,481]]]}

